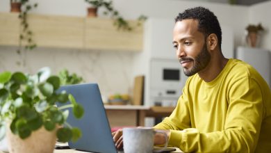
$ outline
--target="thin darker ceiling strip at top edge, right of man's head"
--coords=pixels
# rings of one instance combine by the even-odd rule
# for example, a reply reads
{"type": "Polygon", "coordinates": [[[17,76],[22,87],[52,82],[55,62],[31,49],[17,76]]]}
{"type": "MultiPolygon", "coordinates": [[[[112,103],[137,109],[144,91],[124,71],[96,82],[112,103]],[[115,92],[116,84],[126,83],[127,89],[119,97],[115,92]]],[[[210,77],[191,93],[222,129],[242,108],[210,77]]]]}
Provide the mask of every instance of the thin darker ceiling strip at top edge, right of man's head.
{"type": "Polygon", "coordinates": [[[251,6],[256,3],[261,3],[263,1],[271,1],[271,0],[194,0],[194,1],[208,1],[212,3],[232,3],[235,5],[251,6]]]}

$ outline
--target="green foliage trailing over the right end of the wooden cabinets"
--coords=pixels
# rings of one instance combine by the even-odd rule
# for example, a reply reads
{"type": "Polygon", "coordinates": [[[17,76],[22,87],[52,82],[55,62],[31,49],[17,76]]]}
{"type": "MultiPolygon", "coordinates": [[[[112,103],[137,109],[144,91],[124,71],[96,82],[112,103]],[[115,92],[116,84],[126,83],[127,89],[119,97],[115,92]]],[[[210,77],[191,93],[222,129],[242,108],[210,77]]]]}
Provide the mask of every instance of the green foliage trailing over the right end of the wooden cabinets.
{"type": "MultiPolygon", "coordinates": [[[[113,8],[113,1],[85,0],[85,2],[89,3],[93,8],[105,8],[104,15],[109,15],[110,18],[114,20],[113,24],[117,27],[118,30],[132,31],[135,28],[120,15],[118,10],[113,8]]],[[[140,15],[140,17],[138,17],[137,26],[140,26],[142,22],[145,22],[146,19],[147,17],[140,15]]]]}

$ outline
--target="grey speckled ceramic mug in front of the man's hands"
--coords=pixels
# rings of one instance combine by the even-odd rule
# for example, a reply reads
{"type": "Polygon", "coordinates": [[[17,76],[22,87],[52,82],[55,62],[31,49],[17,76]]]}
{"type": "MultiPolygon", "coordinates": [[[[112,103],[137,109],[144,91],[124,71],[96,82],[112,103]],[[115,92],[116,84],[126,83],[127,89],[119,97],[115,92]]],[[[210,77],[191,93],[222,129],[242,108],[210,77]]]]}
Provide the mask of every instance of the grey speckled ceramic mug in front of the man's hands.
{"type": "Polygon", "coordinates": [[[163,131],[154,131],[151,128],[124,128],[122,136],[125,153],[163,152],[167,147],[167,134],[163,131]],[[154,135],[156,133],[164,134],[166,143],[161,150],[154,151],[154,135]]]}

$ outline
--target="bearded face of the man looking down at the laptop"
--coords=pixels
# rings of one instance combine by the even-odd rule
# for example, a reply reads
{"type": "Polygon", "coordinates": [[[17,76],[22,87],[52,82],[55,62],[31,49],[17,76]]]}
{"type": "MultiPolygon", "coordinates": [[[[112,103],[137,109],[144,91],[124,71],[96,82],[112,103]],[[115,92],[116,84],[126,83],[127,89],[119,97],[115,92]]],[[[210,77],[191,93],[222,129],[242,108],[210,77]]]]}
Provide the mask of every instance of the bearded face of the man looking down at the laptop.
{"type": "Polygon", "coordinates": [[[184,19],[176,22],[173,30],[173,45],[183,72],[190,77],[204,70],[211,60],[204,34],[197,30],[195,19],[184,19]]]}

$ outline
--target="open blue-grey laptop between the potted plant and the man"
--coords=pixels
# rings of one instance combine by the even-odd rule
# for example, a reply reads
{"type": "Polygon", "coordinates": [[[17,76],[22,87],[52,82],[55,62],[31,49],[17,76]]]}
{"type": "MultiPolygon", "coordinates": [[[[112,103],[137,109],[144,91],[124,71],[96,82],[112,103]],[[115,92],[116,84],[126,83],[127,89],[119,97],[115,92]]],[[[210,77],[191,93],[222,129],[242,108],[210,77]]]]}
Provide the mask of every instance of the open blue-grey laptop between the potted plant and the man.
{"type": "MultiPolygon", "coordinates": [[[[62,86],[59,92],[65,90],[76,99],[76,102],[84,108],[84,115],[76,119],[69,108],[67,122],[72,127],[79,127],[82,132],[81,138],[76,142],[69,141],[69,148],[87,152],[116,153],[117,150],[110,130],[110,124],[106,116],[104,103],[101,100],[101,93],[97,83],[85,83],[62,86]]],[[[60,106],[61,104],[57,104],[60,106]]],[[[154,148],[157,149],[157,148],[154,148]]],[[[167,148],[165,152],[172,152],[174,148],[167,148]]]]}

